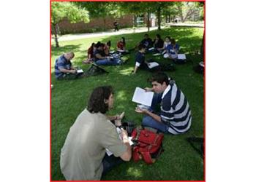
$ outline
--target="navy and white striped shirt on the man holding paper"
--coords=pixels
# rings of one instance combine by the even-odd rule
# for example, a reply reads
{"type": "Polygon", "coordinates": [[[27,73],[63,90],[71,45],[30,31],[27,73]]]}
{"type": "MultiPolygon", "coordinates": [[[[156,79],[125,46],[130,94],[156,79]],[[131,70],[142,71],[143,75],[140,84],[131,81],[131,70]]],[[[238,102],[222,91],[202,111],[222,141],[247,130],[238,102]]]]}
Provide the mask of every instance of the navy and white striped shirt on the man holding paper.
{"type": "Polygon", "coordinates": [[[174,82],[170,82],[162,94],[161,120],[169,126],[168,132],[187,132],[192,116],[187,98],[174,82]]]}

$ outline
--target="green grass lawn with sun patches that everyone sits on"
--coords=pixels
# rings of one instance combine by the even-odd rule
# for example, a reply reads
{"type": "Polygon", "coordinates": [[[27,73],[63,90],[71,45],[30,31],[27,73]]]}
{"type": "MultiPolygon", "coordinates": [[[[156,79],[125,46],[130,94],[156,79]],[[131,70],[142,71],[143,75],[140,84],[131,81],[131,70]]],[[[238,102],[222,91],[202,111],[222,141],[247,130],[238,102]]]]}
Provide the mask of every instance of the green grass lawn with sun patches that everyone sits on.
{"type": "MultiPolygon", "coordinates": [[[[102,180],[145,180],[145,181],[203,181],[203,159],[192,149],[186,138],[197,136],[203,137],[203,76],[193,71],[193,66],[199,63],[200,44],[203,37],[203,28],[168,28],[162,31],[151,31],[149,35],[154,38],[160,33],[162,38],[171,36],[181,46],[181,52],[187,54],[189,60],[184,65],[176,65],[176,71],[166,74],[176,80],[176,84],[186,95],[192,110],[192,127],[189,132],[182,135],[165,135],[163,146],[165,151],[154,165],[146,165],[141,161],[138,163],[124,162],[111,170],[102,180]]],[[[125,34],[127,48],[132,48],[143,39],[144,33],[125,34]]],[[[112,85],[115,89],[114,108],[110,114],[126,112],[125,120],[140,124],[143,115],[135,113],[136,103],[132,103],[132,95],[135,87],[150,87],[146,80],[151,72],[138,70],[138,74],[131,75],[135,65],[135,52],[131,52],[128,62],[124,66],[105,66],[109,74],[90,76],[88,78],[72,81],[56,81],[54,76],[54,63],[56,58],[64,52],[75,52],[73,64],[80,66],[83,70],[89,65],[83,65],[81,61],[86,58],[86,52],[91,42],[112,41],[116,47],[118,36],[101,36],[91,39],[79,39],[74,41],[61,41],[60,47],[54,47],[52,41],[51,71],[51,178],[53,181],[64,180],[59,167],[61,147],[69,132],[69,127],[75,122],[76,117],[86,107],[89,95],[94,87],[112,85]]],[[[151,54],[147,58],[153,58],[151,54]]],[[[155,58],[162,62],[170,62],[162,57],[155,58]]]]}

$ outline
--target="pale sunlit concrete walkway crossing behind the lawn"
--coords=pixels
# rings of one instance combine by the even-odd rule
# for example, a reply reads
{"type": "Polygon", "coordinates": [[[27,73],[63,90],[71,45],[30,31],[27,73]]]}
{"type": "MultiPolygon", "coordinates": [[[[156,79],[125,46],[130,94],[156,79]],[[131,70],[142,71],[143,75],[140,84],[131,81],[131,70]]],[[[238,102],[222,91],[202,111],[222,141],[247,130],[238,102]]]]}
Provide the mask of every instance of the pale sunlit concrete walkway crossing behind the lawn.
{"type": "MultiPolygon", "coordinates": [[[[187,26],[187,27],[202,27],[203,24],[186,24],[186,23],[169,23],[167,26],[162,26],[162,29],[170,28],[170,26],[187,26]]],[[[150,31],[157,30],[157,27],[151,27],[150,31]]],[[[126,33],[140,33],[140,32],[147,32],[147,27],[136,28],[133,30],[132,28],[122,28],[119,31],[105,31],[105,32],[97,32],[97,33],[76,33],[76,34],[68,34],[64,36],[59,36],[59,41],[71,41],[77,39],[85,39],[91,37],[98,37],[98,36],[113,36],[113,35],[121,35],[126,33]]],[[[52,41],[54,41],[54,35],[52,36],[52,41]]]]}

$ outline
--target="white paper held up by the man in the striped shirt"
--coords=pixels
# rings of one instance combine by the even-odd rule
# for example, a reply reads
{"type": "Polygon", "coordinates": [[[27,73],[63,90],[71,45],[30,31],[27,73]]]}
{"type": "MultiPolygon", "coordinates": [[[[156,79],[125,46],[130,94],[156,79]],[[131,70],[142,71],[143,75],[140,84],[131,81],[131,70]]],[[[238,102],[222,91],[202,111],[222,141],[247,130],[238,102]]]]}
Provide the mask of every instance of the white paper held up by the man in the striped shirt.
{"type": "Polygon", "coordinates": [[[132,102],[141,103],[146,106],[151,106],[154,92],[146,92],[140,87],[136,87],[132,97],[132,102]]]}

